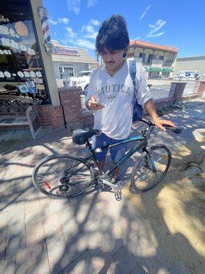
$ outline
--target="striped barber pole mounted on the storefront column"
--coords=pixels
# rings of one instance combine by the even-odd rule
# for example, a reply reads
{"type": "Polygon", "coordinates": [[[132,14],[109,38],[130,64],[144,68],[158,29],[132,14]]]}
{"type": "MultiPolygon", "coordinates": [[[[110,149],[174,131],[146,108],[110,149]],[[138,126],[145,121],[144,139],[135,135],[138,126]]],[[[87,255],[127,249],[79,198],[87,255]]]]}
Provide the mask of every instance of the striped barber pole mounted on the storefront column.
{"type": "Polygon", "coordinates": [[[53,52],[53,44],[51,43],[51,35],[49,30],[49,14],[44,7],[38,7],[38,15],[40,16],[40,22],[42,25],[42,31],[44,34],[44,47],[46,52],[53,52]]]}

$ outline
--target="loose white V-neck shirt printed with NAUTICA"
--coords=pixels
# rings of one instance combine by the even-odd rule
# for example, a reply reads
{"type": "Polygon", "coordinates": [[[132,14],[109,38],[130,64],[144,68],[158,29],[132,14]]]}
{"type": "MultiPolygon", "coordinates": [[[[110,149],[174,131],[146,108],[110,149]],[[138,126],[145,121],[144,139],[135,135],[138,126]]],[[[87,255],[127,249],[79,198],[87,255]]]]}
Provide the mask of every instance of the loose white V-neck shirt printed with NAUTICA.
{"type": "MultiPolygon", "coordinates": [[[[152,97],[141,64],[137,64],[136,87],[137,102],[143,106],[152,97]]],[[[94,129],[114,139],[128,138],[133,120],[133,90],[128,62],[113,76],[107,73],[105,66],[95,69],[90,77],[86,101],[94,95],[105,108],[93,111],[94,129]]]]}

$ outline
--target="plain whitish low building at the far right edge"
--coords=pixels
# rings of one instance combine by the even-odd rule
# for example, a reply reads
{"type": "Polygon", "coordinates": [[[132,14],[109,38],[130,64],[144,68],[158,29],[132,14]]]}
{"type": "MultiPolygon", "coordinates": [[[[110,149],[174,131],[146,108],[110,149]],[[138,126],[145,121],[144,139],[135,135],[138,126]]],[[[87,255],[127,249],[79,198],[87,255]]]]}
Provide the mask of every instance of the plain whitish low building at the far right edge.
{"type": "Polygon", "coordinates": [[[173,76],[179,71],[199,71],[200,79],[205,79],[205,55],[176,58],[173,76]]]}

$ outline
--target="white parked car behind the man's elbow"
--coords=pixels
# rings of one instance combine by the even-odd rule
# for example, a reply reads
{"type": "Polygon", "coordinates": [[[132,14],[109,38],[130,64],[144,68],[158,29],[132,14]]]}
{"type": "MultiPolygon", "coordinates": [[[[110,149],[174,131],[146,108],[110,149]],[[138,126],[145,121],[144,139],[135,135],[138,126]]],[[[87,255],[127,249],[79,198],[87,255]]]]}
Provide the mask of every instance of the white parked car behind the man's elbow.
{"type": "Polygon", "coordinates": [[[80,71],[76,76],[70,77],[69,85],[76,88],[82,88],[83,94],[87,95],[91,73],[92,71],[80,71]]]}

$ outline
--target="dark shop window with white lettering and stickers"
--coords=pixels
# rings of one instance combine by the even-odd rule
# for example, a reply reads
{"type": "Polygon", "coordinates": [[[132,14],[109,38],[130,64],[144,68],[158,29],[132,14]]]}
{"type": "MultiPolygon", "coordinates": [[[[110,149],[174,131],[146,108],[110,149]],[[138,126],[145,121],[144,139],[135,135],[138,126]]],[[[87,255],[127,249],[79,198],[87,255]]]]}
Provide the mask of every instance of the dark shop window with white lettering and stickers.
{"type": "Polygon", "coordinates": [[[0,1],[0,95],[49,102],[29,0],[0,1]]]}

